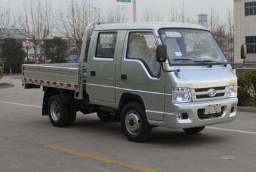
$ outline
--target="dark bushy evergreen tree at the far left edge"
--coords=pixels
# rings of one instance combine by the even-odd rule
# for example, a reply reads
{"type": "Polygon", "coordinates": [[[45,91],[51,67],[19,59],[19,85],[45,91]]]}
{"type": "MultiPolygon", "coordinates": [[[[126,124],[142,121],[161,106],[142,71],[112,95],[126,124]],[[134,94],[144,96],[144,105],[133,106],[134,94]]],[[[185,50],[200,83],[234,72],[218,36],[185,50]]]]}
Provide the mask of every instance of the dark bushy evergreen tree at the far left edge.
{"type": "Polygon", "coordinates": [[[1,45],[1,57],[4,59],[5,71],[19,73],[21,70],[21,64],[26,56],[24,50],[22,50],[22,44],[17,43],[15,39],[6,38],[3,39],[1,45]]]}

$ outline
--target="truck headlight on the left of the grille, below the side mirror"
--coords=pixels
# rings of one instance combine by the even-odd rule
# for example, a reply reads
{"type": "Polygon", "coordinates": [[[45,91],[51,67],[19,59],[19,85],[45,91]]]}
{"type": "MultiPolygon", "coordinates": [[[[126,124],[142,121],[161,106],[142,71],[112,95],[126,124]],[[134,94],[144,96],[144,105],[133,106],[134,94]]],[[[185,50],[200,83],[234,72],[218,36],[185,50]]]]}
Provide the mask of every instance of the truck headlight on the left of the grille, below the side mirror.
{"type": "Polygon", "coordinates": [[[192,102],[190,89],[172,88],[172,103],[192,102]]]}

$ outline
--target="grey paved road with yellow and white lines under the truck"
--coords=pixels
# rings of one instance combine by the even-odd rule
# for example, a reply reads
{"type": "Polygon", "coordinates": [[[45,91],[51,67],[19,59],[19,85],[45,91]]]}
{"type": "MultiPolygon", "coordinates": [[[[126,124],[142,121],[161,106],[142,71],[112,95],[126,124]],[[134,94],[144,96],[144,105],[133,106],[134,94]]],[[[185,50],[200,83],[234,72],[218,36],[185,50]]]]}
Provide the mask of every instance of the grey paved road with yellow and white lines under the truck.
{"type": "Polygon", "coordinates": [[[10,77],[1,82],[15,87],[0,89],[0,171],[256,171],[255,113],[196,135],[159,127],[150,142],[132,143],[120,124],[94,115],[52,127],[41,116],[42,90],[23,90],[10,77]]]}

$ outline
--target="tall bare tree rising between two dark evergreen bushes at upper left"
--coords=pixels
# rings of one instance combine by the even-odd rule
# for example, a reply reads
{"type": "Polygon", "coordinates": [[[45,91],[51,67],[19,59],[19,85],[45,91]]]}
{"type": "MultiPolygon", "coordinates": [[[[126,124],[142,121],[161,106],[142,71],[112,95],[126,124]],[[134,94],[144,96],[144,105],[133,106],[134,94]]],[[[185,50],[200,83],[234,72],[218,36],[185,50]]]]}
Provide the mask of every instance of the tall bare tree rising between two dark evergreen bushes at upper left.
{"type": "Polygon", "coordinates": [[[35,58],[37,48],[40,48],[41,43],[54,29],[54,15],[49,0],[24,0],[24,11],[19,21],[21,27],[26,29],[26,36],[33,43],[35,58]]]}

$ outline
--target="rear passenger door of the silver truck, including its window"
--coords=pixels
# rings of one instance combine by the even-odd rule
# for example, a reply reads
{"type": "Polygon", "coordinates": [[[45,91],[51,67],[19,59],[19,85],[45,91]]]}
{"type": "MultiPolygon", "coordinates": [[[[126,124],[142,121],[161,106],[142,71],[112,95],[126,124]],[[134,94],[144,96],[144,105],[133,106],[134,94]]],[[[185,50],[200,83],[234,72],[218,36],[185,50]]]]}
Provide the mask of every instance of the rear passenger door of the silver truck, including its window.
{"type": "Polygon", "coordinates": [[[88,59],[86,92],[92,103],[115,103],[116,41],[118,32],[94,32],[94,45],[88,59]]]}

